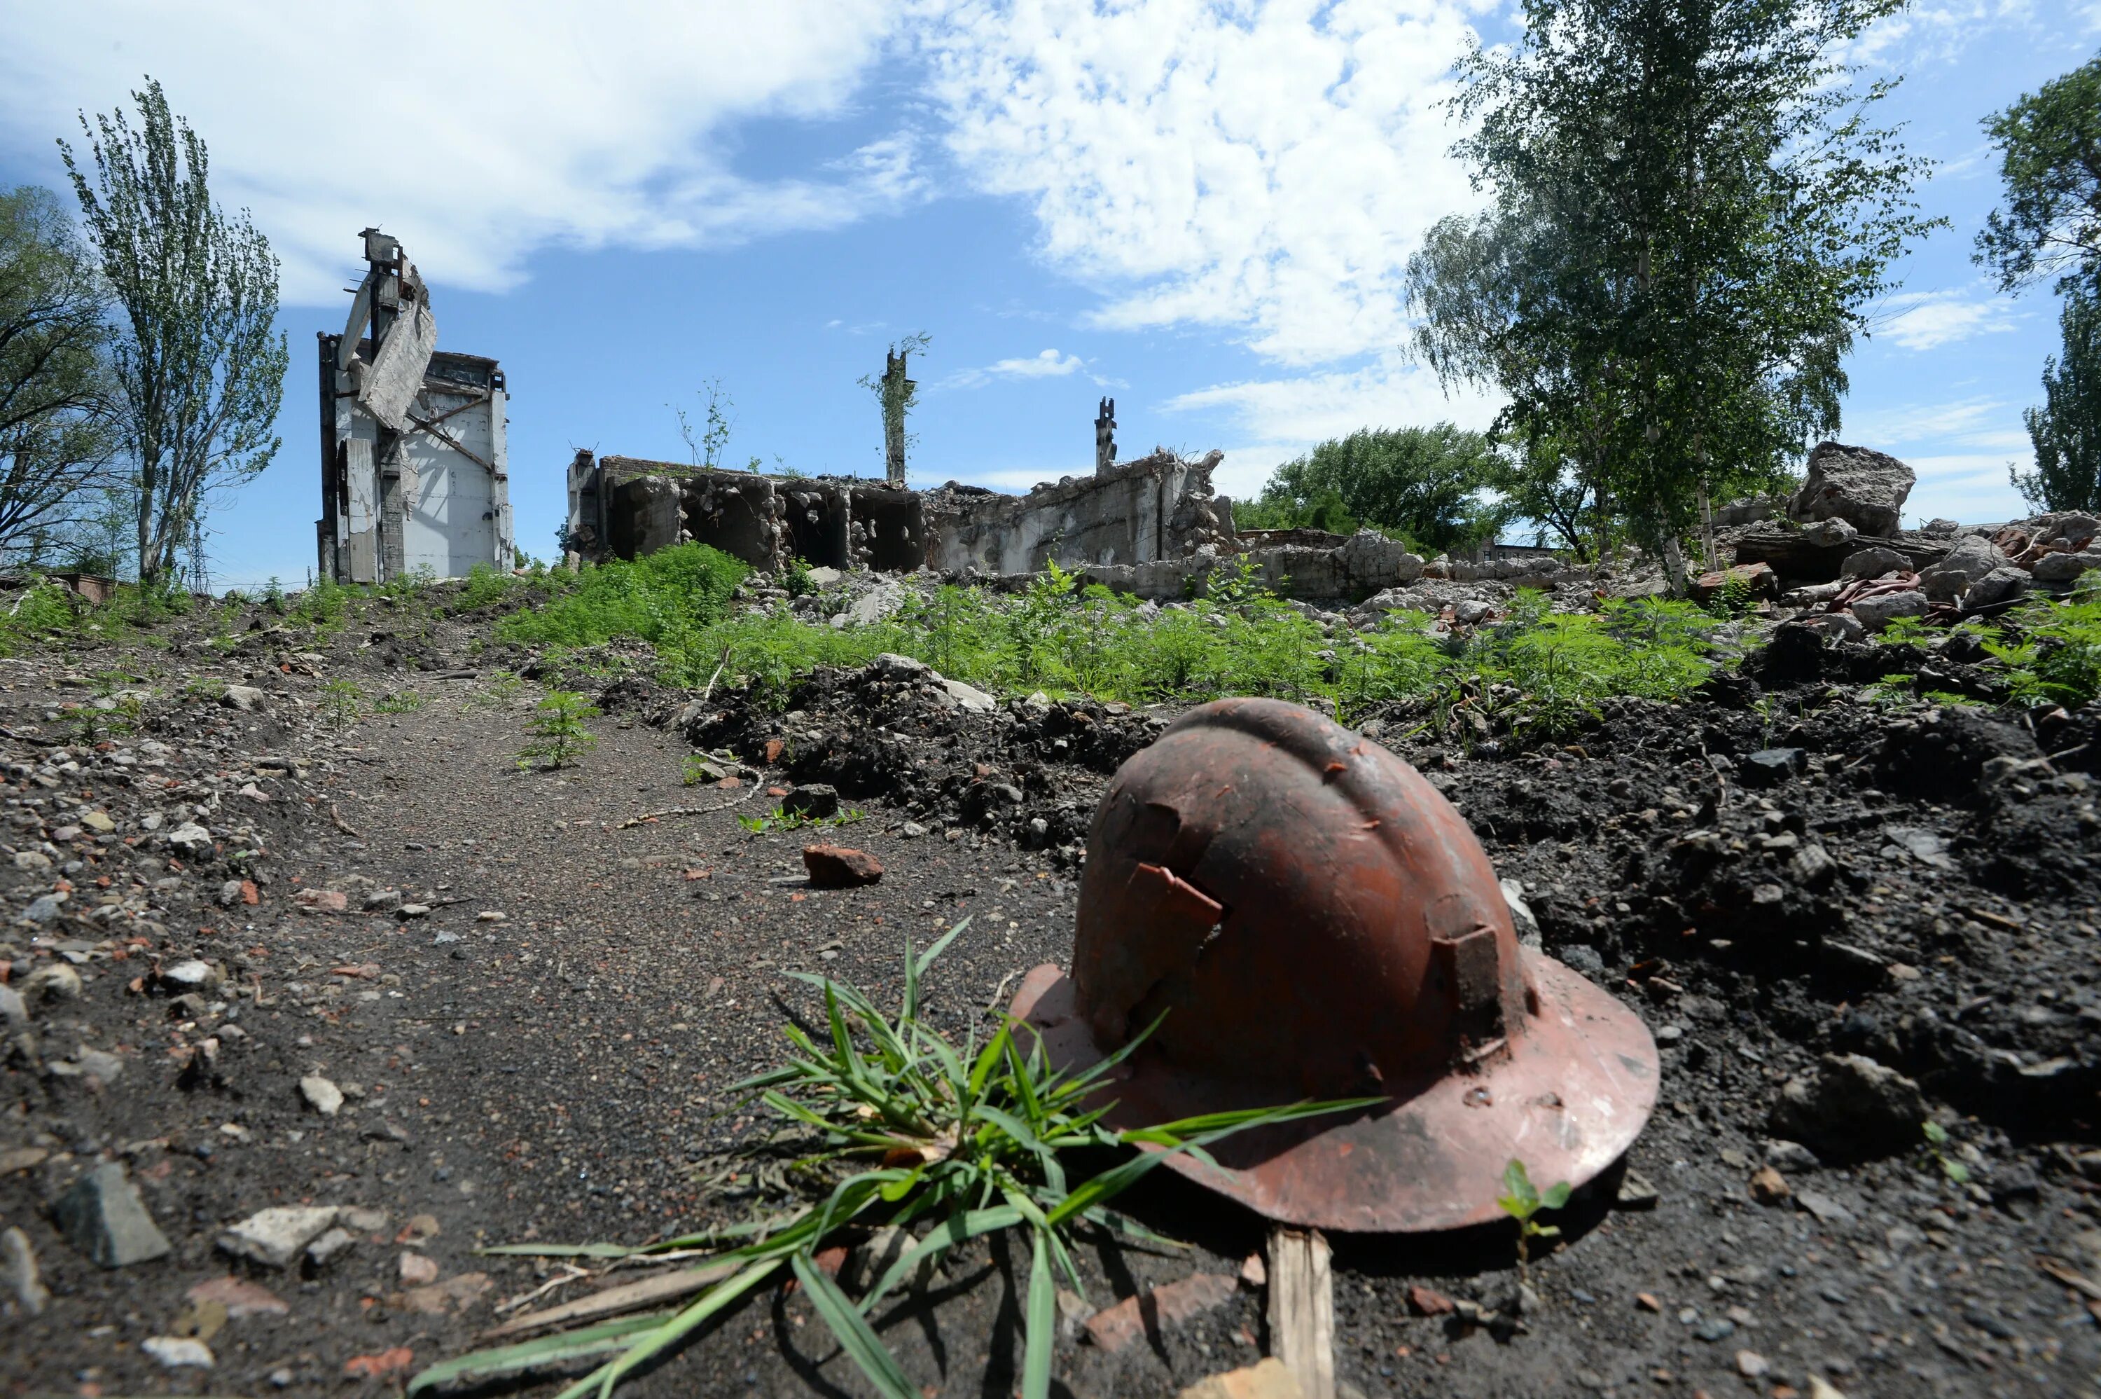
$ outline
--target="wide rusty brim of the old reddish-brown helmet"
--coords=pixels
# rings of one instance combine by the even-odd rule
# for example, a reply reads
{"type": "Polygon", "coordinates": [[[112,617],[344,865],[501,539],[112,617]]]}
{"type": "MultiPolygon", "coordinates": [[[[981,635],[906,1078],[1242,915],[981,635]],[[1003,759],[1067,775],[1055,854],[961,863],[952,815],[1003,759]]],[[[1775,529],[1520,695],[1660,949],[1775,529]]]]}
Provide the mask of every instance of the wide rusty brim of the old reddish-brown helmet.
{"type": "MultiPolygon", "coordinates": [[[[1429,1233],[1504,1218],[1496,1204],[1511,1160],[1546,1189],[1582,1187],[1641,1134],[1656,1107],[1656,1040],[1632,1010],[1553,958],[1525,949],[1538,1012],[1490,1061],[1422,1092],[1347,1115],[1307,1118],[1227,1136],[1216,1164],[1187,1151],[1164,1164],[1198,1185],[1286,1225],[1345,1233],[1429,1233]]],[[[1044,964],[1013,1002],[1044,1040],[1050,1063],[1101,1063],[1072,979],[1044,964]]],[[[1248,1086],[1177,1071],[1160,1055],[1116,1065],[1103,1086],[1105,1122],[1147,1128],[1202,1113],[1277,1107],[1248,1086]]]]}

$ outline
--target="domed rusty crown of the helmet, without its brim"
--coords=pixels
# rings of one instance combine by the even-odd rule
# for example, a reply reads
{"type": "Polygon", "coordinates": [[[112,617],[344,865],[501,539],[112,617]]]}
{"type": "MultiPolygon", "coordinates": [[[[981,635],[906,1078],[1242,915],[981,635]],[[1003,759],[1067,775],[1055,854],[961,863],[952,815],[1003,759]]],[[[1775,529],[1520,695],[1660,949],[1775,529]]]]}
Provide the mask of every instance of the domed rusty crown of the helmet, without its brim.
{"type": "Polygon", "coordinates": [[[1494,868],[1385,748],[1296,706],[1185,714],[1118,773],[1074,949],[1103,1050],[1233,1084],[1248,1105],[1408,1094],[1523,1031],[1494,868]]]}

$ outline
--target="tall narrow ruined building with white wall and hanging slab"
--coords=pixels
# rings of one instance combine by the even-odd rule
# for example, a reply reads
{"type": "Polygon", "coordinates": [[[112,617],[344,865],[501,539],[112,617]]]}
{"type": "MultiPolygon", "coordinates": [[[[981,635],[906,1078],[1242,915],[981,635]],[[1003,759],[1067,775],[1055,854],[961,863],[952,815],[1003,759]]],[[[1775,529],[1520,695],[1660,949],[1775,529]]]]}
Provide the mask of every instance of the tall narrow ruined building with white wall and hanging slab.
{"type": "Polygon", "coordinates": [[[504,374],[437,349],[401,244],[366,229],[370,271],[340,336],[319,336],[321,578],[464,578],[513,561],[504,374]]]}

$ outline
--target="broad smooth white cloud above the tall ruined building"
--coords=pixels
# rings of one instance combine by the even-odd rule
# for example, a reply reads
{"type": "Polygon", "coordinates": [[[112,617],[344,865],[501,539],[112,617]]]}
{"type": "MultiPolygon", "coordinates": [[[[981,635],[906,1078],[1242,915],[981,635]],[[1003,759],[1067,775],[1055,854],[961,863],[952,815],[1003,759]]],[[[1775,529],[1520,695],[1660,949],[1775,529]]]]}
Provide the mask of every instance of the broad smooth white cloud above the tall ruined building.
{"type": "MultiPolygon", "coordinates": [[[[32,6],[0,44],[0,141],[84,155],[78,109],[151,71],[286,265],[286,300],[338,302],[355,233],[384,227],[437,284],[502,290],[548,246],[710,246],[824,229],[922,189],[910,134],[807,172],[740,174],[752,118],[840,116],[897,21],[885,0],[32,6]]],[[[439,311],[443,315],[443,309],[439,311]]]]}

